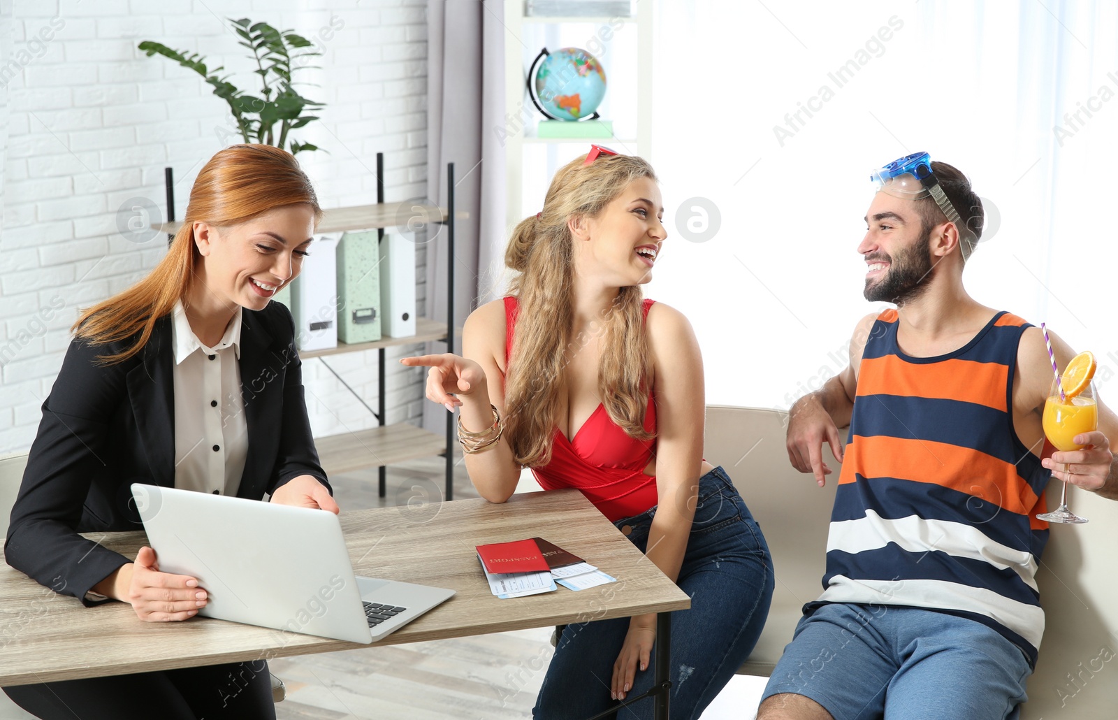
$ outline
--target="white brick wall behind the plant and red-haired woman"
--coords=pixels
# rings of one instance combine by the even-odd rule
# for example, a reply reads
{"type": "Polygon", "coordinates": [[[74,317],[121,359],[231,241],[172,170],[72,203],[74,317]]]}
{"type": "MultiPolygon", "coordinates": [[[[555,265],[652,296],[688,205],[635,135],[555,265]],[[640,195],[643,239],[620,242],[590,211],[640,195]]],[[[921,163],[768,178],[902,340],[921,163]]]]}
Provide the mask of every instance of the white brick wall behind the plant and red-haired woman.
{"type": "MultiPolygon", "coordinates": [[[[427,164],[427,26],[423,0],[226,0],[224,18],[291,28],[324,55],[296,79],[326,103],[322,126],[293,133],[328,153],[301,153],[323,207],[376,200],[376,153],[386,153],[388,200],[421,197],[427,164]],[[340,28],[339,28],[340,26],[340,28]]],[[[26,448],[79,307],[120,292],[162,257],[116,230],[116,211],[148,198],[165,214],[163,168],[176,177],[177,217],[198,169],[229,132],[224,101],[201,77],[136,49],[157,40],[224,65],[255,92],[238,38],[191,0],[0,0],[0,453],[26,448]],[[44,319],[44,309],[61,305],[44,319]]],[[[425,252],[418,253],[423,278],[425,252]]],[[[313,258],[312,258],[313,262],[313,258]]],[[[425,288],[417,287],[419,312],[425,288]]],[[[388,356],[388,421],[418,421],[423,373],[388,356]]],[[[371,407],[375,351],[328,358],[371,407]]],[[[376,424],[318,360],[304,362],[316,435],[376,424]]]]}

